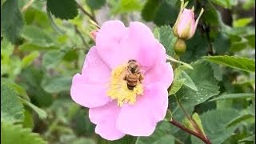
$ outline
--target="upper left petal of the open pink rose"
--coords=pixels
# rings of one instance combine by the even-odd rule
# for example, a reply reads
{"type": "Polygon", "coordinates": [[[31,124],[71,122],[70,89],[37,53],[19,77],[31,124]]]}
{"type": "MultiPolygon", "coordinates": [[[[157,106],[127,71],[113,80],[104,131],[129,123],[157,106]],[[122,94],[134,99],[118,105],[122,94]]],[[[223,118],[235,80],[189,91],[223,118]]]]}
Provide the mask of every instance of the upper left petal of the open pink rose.
{"type": "Polygon", "coordinates": [[[126,46],[123,43],[127,41],[127,38],[127,28],[121,21],[104,22],[98,30],[96,38],[98,54],[110,68],[113,69],[127,61],[129,49],[123,47],[126,46]]]}

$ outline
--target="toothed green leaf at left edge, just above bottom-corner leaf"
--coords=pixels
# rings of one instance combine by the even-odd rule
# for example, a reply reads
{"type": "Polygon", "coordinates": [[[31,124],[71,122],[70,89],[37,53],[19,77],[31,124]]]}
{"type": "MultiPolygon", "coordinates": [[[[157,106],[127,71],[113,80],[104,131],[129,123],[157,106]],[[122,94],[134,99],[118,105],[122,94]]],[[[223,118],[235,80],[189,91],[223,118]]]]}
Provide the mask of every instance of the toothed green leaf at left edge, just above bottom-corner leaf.
{"type": "Polygon", "coordinates": [[[18,94],[1,82],[1,122],[22,122],[24,109],[18,100],[18,94]]]}

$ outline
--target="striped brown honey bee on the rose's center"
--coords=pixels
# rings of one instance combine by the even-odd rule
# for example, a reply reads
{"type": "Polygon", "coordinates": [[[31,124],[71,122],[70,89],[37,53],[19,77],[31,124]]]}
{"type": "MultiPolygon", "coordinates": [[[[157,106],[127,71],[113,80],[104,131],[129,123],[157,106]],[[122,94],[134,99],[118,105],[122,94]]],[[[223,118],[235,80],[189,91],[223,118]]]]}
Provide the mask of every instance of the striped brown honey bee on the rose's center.
{"type": "Polygon", "coordinates": [[[126,80],[129,90],[134,90],[134,87],[137,86],[137,83],[142,82],[143,77],[141,71],[139,69],[138,63],[134,59],[128,61],[128,65],[126,67],[126,75],[123,79],[126,80]]]}

